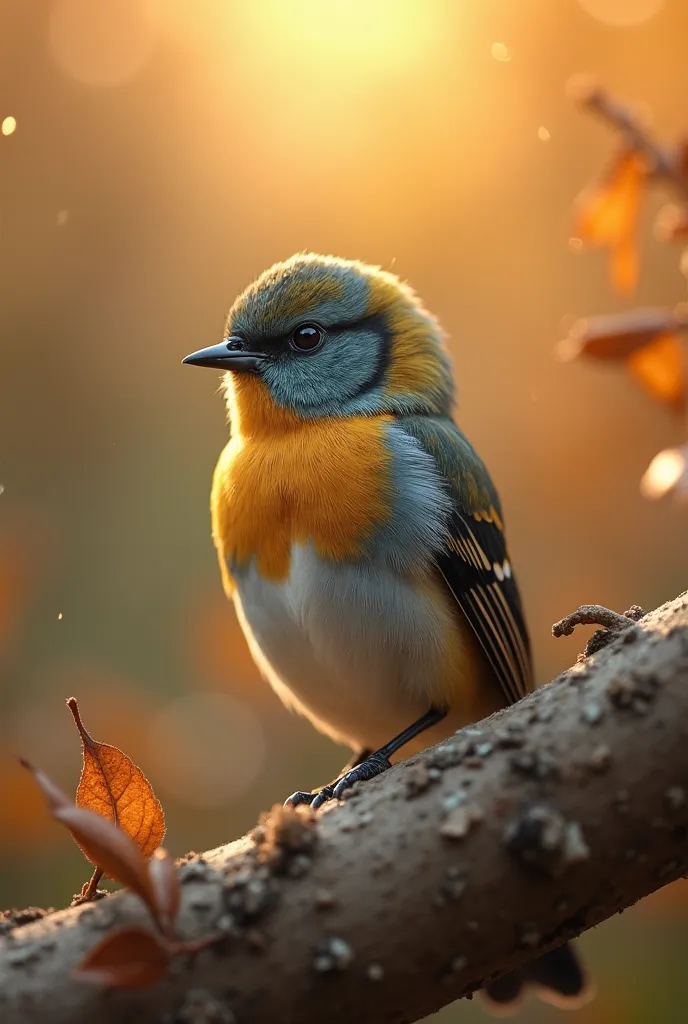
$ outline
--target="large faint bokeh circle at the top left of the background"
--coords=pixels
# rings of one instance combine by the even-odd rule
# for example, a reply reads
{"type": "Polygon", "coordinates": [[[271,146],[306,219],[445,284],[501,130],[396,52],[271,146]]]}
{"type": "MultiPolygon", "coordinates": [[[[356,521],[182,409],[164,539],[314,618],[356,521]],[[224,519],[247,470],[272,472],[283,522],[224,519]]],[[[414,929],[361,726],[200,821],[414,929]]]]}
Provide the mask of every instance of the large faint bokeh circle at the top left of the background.
{"type": "Polygon", "coordinates": [[[122,85],[147,63],[156,43],[144,0],[55,0],[49,42],[66,74],[86,85],[122,85]]]}

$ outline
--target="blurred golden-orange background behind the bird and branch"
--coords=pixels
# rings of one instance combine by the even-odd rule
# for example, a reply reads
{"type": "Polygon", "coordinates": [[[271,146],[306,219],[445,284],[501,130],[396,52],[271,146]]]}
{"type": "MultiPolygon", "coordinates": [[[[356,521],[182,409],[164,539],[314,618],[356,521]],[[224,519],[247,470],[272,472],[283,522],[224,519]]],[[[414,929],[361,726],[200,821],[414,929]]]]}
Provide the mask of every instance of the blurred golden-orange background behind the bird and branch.
{"type": "MultiPolygon", "coordinates": [[[[2,5],[0,906],[63,904],[88,874],[15,762],[76,786],[67,696],[146,772],[175,855],[341,766],[260,681],[223,598],[207,505],[224,411],[180,365],[276,259],[379,263],[441,317],[541,680],[580,646],[550,636],[577,604],[684,589],[685,513],[638,488],[681,424],[554,348],[624,306],[603,258],[567,244],[612,141],[566,80],[593,72],[688,133],[686,32],[682,0],[2,5]]],[[[648,230],[660,202],[643,304],[683,298],[648,230]]],[[[685,1020],[687,885],[584,937],[600,995],[576,1020],[685,1020]]]]}

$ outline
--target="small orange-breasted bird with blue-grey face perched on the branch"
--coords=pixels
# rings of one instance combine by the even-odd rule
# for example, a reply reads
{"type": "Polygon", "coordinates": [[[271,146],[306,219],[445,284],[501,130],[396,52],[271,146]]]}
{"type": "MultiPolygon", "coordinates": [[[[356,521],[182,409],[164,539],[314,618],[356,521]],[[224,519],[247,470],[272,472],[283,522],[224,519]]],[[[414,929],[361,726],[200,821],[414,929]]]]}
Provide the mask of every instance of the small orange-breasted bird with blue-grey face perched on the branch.
{"type": "MultiPolygon", "coordinates": [[[[394,274],[299,253],[235,300],[220,344],[230,439],[211,495],[227,595],[287,707],[348,744],[317,808],[401,749],[524,696],[530,646],[500,499],[451,419],[443,334],[394,274]]],[[[579,1005],[570,946],[487,986],[579,1005]]]]}

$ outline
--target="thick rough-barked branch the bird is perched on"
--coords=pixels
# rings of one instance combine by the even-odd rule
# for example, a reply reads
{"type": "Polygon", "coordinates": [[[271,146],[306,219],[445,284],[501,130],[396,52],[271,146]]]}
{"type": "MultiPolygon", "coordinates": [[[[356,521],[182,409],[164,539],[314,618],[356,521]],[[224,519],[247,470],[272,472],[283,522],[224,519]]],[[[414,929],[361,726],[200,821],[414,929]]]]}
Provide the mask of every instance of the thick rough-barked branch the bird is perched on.
{"type": "MultiPolygon", "coordinates": [[[[688,599],[344,805],[275,810],[181,866],[180,933],[221,936],[150,988],[71,968],[118,893],[0,940],[3,1024],[413,1021],[688,870],[688,599]]],[[[593,966],[594,967],[594,966],[593,966]]]]}

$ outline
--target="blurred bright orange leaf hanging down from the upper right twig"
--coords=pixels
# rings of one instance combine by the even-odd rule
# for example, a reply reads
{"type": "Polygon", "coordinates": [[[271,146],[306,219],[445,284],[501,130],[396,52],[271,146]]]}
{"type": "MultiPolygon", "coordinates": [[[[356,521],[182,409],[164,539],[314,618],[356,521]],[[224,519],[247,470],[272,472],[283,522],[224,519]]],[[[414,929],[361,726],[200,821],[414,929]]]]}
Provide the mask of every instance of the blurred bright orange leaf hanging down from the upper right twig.
{"type": "Polygon", "coordinates": [[[632,292],[638,281],[635,234],[647,179],[643,157],[625,147],[603,180],[586,188],[576,202],[573,233],[609,250],[612,283],[624,293],[632,292]]]}

